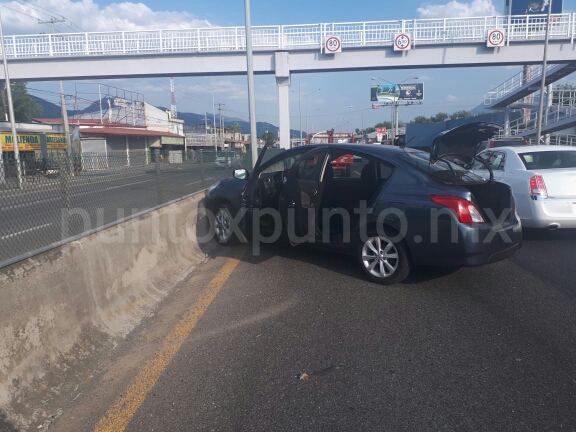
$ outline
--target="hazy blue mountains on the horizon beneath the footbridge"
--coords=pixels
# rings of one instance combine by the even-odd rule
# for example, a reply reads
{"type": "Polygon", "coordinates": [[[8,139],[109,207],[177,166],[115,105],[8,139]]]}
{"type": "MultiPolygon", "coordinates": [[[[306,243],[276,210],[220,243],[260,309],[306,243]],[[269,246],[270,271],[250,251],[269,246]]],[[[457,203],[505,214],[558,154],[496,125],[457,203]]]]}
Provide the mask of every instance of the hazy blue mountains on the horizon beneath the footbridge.
{"type": "MultiPolygon", "coordinates": [[[[36,102],[38,103],[41,107],[42,107],[42,115],[41,117],[44,118],[58,118],[60,117],[60,105],[56,105],[52,102],[49,102],[45,99],[39,98],[37,96],[33,96],[30,95],[30,97],[36,102]]],[[[108,106],[108,101],[106,99],[102,100],[102,105],[103,106],[108,106]]],[[[72,117],[72,116],[77,116],[77,115],[81,115],[81,114],[87,114],[87,113],[93,113],[99,110],[99,106],[100,106],[100,101],[96,100],[93,103],[89,104],[88,107],[86,107],[83,110],[68,110],[68,116],[72,117]]],[[[165,107],[157,107],[158,109],[161,110],[166,110],[165,107]]],[[[212,116],[211,113],[207,113],[206,114],[208,116],[208,123],[211,124],[214,121],[214,118],[212,116]]],[[[40,117],[40,116],[39,116],[40,117]]],[[[178,112],[178,118],[181,120],[184,120],[184,122],[186,124],[204,124],[204,114],[197,114],[197,113],[192,113],[192,112],[178,112]]],[[[216,123],[219,124],[220,123],[220,118],[218,116],[216,116],[216,123]]],[[[224,124],[226,125],[233,125],[235,123],[238,123],[240,125],[240,127],[242,128],[242,133],[245,134],[249,134],[250,133],[250,122],[246,121],[246,120],[242,120],[240,118],[235,118],[235,117],[230,117],[230,118],[226,118],[224,117],[224,124]]],[[[273,124],[270,123],[266,123],[266,122],[256,122],[256,131],[257,131],[257,135],[258,136],[262,136],[264,135],[264,132],[266,132],[266,130],[271,131],[274,133],[274,135],[278,136],[278,126],[275,126],[273,124]]],[[[306,132],[302,132],[304,135],[306,134],[306,132]]],[[[290,129],[290,136],[300,136],[300,131],[297,129],[290,129]]]]}

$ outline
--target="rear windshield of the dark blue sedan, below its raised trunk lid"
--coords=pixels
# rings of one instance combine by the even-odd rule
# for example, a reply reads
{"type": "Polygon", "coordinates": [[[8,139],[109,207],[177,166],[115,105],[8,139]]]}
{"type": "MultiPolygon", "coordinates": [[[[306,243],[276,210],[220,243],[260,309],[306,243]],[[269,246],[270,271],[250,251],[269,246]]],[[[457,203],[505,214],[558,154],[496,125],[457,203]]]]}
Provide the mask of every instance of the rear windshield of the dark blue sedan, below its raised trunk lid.
{"type": "Polygon", "coordinates": [[[430,154],[418,150],[405,151],[400,158],[420,171],[445,183],[486,183],[486,180],[459,165],[447,161],[437,161],[430,165],[430,154]],[[450,167],[452,169],[450,169],[450,167]],[[456,173],[456,176],[454,176],[456,173]]]}

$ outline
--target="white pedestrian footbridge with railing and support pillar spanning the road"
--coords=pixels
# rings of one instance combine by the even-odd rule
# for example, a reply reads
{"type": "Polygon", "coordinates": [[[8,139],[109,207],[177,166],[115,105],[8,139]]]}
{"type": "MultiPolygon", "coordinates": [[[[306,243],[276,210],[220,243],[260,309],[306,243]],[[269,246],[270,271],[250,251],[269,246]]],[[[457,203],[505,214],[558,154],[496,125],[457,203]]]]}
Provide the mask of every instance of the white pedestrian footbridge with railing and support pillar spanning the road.
{"type": "MultiPolygon", "coordinates": [[[[288,146],[292,73],[536,65],[547,22],[546,15],[519,15],[255,26],[254,72],[276,76],[280,141],[288,146]],[[494,30],[501,46],[488,44],[494,30]],[[407,49],[395,49],[399,34],[409,39],[407,49]],[[330,36],[341,40],[341,52],[325,52],[330,36]]],[[[576,13],[554,14],[549,27],[549,62],[576,62],[576,13]]],[[[22,81],[246,74],[244,27],[14,35],[4,42],[11,77],[22,81]]],[[[493,107],[507,103],[501,93],[493,107]]]]}

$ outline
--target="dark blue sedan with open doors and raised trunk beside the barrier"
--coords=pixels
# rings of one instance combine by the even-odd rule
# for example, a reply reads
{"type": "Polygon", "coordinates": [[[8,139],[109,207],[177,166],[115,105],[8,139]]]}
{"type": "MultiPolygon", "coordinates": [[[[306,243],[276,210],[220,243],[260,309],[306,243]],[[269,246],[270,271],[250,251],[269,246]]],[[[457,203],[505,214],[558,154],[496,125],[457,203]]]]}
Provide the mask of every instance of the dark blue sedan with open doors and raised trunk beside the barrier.
{"type": "Polygon", "coordinates": [[[292,245],[309,242],[348,254],[368,279],[384,285],[402,281],[414,265],[478,266],[509,257],[522,240],[510,187],[445,160],[470,163],[476,156],[474,140],[455,152],[446,147],[450,136],[445,138],[434,142],[431,154],[334,143],[296,147],[262,163],[265,146],[252,172],[235,170],[234,178],[209,188],[206,208],[214,215],[215,239],[240,240],[233,223],[242,211],[246,238],[256,239],[259,229],[265,238],[278,233],[292,245]],[[343,157],[353,161],[352,169],[349,176],[336,176],[333,165],[343,157]],[[362,203],[371,209],[366,217],[355,211],[362,203]],[[334,209],[349,217],[326,221],[325,210],[334,209]],[[253,220],[261,210],[280,217],[253,220]],[[390,210],[395,216],[379,219],[390,210]],[[505,220],[490,217],[502,213],[505,220]]]}

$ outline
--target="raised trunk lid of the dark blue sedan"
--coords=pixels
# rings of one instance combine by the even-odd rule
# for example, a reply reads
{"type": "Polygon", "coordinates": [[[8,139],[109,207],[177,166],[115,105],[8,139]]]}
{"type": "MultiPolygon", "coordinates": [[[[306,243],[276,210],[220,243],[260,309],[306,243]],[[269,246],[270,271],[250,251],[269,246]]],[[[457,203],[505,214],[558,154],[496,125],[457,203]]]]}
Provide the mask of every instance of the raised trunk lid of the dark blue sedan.
{"type": "Polygon", "coordinates": [[[482,141],[498,135],[501,129],[502,126],[496,123],[475,122],[440,132],[432,141],[430,163],[444,159],[469,165],[474,161],[482,141]]]}

